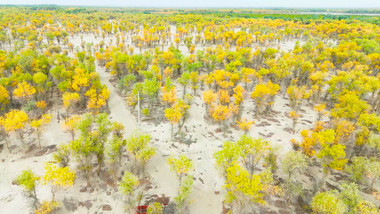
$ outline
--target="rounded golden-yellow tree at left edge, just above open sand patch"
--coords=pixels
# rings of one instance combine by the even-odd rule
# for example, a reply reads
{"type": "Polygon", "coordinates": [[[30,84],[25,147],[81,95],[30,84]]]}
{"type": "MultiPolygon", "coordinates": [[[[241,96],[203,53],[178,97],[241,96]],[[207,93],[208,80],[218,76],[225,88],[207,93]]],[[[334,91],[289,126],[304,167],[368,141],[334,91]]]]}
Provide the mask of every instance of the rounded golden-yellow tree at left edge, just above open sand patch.
{"type": "MultiPolygon", "coordinates": [[[[28,121],[28,115],[22,110],[11,110],[5,113],[3,117],[0,117],[0,124],[4,128],[5,132],[13,133],[18,132],[21,139],[23,139],[23,129],[28,121]]],[[[8,141],[6,140],[7,148],[8,141]]]]}

